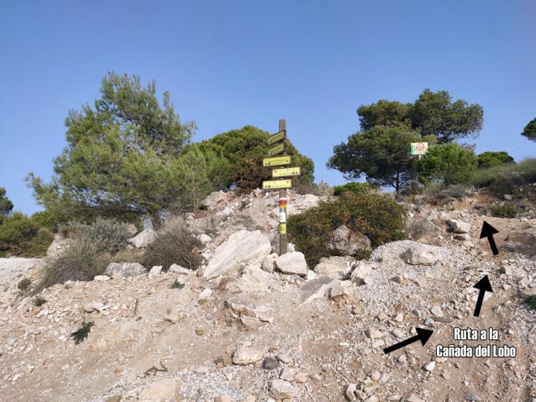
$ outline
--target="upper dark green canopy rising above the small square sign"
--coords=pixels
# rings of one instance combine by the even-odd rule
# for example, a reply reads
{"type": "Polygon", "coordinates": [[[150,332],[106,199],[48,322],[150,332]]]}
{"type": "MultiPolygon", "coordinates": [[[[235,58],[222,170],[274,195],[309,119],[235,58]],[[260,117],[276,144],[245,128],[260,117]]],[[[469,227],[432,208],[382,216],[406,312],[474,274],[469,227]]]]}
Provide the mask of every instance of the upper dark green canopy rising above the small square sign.
{"type": "Polygon", "coordinates": [[[422,137],[435,135],[439,144],[476,137],[482,129],[484,112],[478,104],[452,101],[447,91],[425,89],[414,103],[380,100],[357,109],[362,130],[374,126],[410,124],[422,137]]]}

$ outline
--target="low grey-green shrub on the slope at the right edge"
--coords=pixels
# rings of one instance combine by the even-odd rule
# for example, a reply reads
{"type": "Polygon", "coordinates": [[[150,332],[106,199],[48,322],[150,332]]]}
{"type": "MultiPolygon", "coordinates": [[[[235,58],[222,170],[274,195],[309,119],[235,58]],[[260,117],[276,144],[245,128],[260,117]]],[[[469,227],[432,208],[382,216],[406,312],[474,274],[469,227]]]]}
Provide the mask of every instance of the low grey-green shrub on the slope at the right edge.
{"type": "Polygon", "coordinates": [[[512,193],[514,188],[536,181],[536,158],[526,158],[519,163],[493,166],[477,170],[471,183],[477,188],[491,186],[497,195],[512,193]]]}

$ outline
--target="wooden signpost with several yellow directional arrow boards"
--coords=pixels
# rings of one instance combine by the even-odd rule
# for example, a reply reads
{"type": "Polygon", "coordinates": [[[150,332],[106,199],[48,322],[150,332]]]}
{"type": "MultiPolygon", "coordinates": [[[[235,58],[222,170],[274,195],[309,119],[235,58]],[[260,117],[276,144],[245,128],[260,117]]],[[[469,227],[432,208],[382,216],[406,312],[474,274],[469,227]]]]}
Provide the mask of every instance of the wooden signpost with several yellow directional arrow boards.
{"type": "MultiPolygon", "coordinates": [[[[262,166],[281,167],[290,165],[290,156],[285,155],[285,138],[287,137],[287,123],[285,119],[279,120],[279,131],[268,137],[268,158],[262,160],[262,166]]],[[[293,177],[301,174],[301,168],[283,168],[271,171],[271,177],[293,177]]],[[[262,181],[262,188],[266,190],[279,189],[279,255],[287,252],[287,188],[292,187],[292,179],[262,181]]]]}

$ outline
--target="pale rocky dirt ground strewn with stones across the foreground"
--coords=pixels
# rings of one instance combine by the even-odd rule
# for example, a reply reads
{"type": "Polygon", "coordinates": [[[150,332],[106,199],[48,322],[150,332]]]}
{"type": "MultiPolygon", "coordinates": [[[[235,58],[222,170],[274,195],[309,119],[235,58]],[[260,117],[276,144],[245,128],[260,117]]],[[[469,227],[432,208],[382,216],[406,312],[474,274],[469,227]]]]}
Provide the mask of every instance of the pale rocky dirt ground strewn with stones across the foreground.
{"type": "MultiPolygon", "coordinates": [[[[17,281],[43,262],[2,260],[0,401],[536,401],[536,311],[523,304],[536,293],[536,210],[482,216],[478,197],[410,206],[410,218],[438,227],[424,241],[433,246],[396,241],[367,262],[325,260],[316,274],[299,253],[270,255],[277,195],[261,191],[216,193],[188,218],[205,243],[195,273],[117,265],[44,290],[35,306],[17,281]],[[479,240],[484,220],[500,231],[499,255],[479,240]],[[475,317],[484,275],[493,292],[475,317]],[[82,322],[94,324],[76,344],[82,322]],[[385,354],[416,327],[433,330],[426,345],[385,354]],[[455,327],[499,338],[454,341],[455,327]],[[479,344],[516,357],[436,355],[479,344]]],[[[291,214],[319,201],[289,198],[291,214]]]]}

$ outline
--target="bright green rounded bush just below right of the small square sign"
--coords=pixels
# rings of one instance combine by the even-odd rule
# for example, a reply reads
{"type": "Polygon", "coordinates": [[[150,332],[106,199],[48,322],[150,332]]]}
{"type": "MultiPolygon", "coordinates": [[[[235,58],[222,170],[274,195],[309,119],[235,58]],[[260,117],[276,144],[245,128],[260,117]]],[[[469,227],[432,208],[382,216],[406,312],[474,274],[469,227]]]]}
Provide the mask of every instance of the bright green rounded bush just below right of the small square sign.
{"type": "Polygon", "coordinates": [[[472,149],[450,143],[435,145],[417,164],[419,180],[445,181],[445,184],[467,183],[475,174],[477,161],[472,149]]]}

